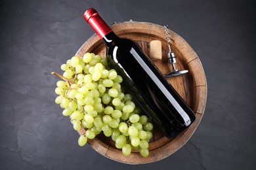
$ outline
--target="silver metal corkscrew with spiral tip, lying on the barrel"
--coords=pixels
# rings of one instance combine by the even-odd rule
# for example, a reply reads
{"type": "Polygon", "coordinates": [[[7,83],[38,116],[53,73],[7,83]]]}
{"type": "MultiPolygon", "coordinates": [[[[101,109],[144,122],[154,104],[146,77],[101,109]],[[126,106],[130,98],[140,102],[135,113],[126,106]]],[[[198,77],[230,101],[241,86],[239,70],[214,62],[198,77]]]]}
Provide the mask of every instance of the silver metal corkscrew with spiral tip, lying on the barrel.
{"type": "Polygon", "coordinates": [[[169,78],[169,77],[173,77],[173,76],[180,76],[180,75],[184,75],[185,73],[188,73],[188,70],[178,70],[175,68],[175,63],[176,61],[176,56],[175,54],[171,51],[171,39],[169,37],[170,33],[168,33],[168,25],[164,25],[165,28],[165,35],[166,35],[166,39],[167,39],[167,44],[168,44],[168,48],[169,48],[169,52],[168,52],[168,63],[169,65],[172,66],[172,70],[170,73],[167,73],[165,76],[165,78],[169,78]]]}

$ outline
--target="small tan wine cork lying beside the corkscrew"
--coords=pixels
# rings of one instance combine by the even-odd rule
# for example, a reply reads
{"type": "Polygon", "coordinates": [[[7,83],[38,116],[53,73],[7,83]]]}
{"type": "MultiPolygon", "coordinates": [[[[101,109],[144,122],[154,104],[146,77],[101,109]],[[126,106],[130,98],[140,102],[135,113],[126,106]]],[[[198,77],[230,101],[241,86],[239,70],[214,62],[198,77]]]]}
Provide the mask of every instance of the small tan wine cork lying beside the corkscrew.
{"type": "Polygon", "coordinates": [[[161,41],[159,40],[150,41],[150,59],[152,60],[161,59],[161,41]]]}

